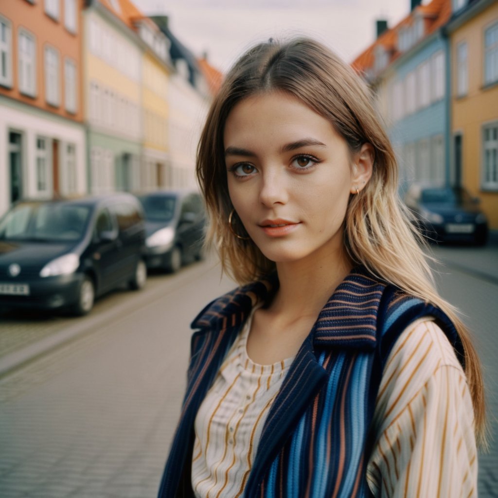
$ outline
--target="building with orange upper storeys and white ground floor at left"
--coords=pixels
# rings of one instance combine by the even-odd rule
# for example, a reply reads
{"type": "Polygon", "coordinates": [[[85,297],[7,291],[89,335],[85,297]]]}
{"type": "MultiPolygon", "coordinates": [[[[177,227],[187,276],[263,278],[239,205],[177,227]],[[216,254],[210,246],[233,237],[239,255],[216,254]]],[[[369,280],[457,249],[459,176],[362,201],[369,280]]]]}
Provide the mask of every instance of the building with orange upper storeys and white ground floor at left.
{"type": "Polygon", "coordinates": [[[82,6],[0,4],[0,213],[20,197],[86,191],[82,6]]]}

